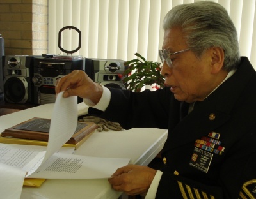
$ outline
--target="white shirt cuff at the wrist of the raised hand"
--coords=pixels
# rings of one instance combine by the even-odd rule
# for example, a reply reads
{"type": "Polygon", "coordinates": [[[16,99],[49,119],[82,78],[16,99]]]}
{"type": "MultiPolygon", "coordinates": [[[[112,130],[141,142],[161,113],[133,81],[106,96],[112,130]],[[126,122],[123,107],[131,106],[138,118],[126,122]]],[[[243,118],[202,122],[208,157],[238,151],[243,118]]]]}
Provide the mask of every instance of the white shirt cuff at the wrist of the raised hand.
{"type": "Polygon", "coordinates": [[[109,101],[111,98],[111,92],[109,91],[109,89],[107,87],[104,87],[103,85],[101,85],[101,86],[103,88],[102,96],[100,98],[100,101],[96,105],[92,105],[92,102],[90,102],[90,100],[85,99],[85,98],[83,98],[83,101],[89,107],[93,107],[93,108],[97,108],[98,110],[105,111],[109,105],[109,101]]]}

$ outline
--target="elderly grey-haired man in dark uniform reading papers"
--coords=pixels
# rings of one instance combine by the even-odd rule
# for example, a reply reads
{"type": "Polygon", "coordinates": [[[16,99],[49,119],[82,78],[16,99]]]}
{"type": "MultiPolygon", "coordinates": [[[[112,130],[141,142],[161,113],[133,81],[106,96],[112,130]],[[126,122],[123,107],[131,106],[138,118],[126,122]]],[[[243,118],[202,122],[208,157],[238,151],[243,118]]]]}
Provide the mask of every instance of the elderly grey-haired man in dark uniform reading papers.
{"type": "Polygon", "coordinates": [[[168,129],[159,168],[118,168],[113,189],[146,198],[256,198],[256,74],[239,56],[227,11],[209,1],[183,4],[163,28],[164,89],[107,89],[73,71],[56,93],[84,98],[90,114],[124,129],[168,129]]]}

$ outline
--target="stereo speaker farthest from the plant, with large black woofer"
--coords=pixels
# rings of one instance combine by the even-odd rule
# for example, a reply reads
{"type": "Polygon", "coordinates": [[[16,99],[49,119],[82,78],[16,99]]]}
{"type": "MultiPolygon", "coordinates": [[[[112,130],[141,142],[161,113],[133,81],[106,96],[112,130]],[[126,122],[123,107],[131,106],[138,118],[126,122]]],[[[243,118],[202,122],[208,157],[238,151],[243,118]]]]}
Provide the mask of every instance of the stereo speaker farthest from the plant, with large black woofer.
{"type": "Polygon", "coordinates": [[[35,56],[11,55],[5,57],[4,99],[9,103],[33,103],[33,60],[35,56]]]}

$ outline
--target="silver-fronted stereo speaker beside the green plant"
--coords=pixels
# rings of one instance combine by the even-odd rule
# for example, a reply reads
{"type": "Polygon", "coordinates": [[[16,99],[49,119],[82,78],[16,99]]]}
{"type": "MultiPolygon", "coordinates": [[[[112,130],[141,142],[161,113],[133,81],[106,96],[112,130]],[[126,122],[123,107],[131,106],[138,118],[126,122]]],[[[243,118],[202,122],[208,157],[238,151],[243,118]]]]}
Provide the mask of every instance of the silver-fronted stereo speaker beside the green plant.
{"type": "Polygon", "coordinates": [[[122,73],[127,69],[125,61],[118,59],[86,59],[85,71],[95,82],[106,87],[126,89],[122,73]]]}

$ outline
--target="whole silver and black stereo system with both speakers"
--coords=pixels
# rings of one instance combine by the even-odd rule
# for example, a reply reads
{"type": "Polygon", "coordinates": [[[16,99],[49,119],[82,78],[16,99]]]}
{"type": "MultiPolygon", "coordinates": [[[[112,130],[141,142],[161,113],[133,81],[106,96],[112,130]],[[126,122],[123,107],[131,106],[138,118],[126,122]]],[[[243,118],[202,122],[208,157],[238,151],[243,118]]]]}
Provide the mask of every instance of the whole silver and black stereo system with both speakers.
{"type": "MultiPolygon", "coordinates": [[[[117,89],[125,89],[120,74],[127,69],[118,59],[88,59],[81,56],[5,57],[3,67],[4,99],[9,103],[54,103],[58,78],[73,70],[83,70],[95,82],[117,89]]],[[[78,98],[78,102],[83,99],[78,98]]]]}

